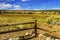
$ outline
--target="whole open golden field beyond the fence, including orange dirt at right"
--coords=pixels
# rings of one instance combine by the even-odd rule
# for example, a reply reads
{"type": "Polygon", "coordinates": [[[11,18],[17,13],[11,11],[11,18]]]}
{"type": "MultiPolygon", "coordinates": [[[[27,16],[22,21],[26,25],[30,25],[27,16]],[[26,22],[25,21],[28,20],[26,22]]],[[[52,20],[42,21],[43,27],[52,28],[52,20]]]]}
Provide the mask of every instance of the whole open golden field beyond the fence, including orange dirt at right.
{"type": "MultiPolygon", "coordinates": [[[[23,22],[34,22],[35,19],[37,20],[38,27],[60,34],[59,10],[40,11],[40,12],[39,11],[35,11],[35,12],[32,12],[32,11],[2,12],[2,14],[0,14],[0,25],[23,23],[23,22]]],[[[22,26],[18,25],[18,26],[14,26],[14,27],[12,27],[12,26],[4,27],[4,28],[1,27],[0,32],[12,30],[12,29],[15,30],[15,29],[27,28],[28,26],[32,27],[34,25],[29,24],[29,25],[22,25],[22,26]]]]}

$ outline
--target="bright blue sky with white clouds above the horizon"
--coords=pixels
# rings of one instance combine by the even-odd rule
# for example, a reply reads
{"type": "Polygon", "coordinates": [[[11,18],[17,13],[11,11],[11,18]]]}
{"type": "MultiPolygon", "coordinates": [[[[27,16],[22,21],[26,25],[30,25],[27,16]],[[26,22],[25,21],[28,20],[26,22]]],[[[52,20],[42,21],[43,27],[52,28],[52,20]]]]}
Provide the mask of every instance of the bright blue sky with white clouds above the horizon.
{"type": "Polygon", "coordinates": [[[0,0],[0,10],[60,10],[60,0],[0,0]]]}

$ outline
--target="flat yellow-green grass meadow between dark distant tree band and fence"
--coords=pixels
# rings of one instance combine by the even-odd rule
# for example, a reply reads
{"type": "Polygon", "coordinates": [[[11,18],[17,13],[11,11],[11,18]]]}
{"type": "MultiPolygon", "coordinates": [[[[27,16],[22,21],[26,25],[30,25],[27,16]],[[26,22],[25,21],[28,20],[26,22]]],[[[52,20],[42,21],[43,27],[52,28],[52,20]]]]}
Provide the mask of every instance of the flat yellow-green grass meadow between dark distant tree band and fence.
{"type": "MultiPolygon", "coordinates": [[[[0,24],[15,24],[22,22],[33,22],[37,20],[38,23],[47,23],[49,25],[60,25],[60,15],[46,15],[46,14],[3,14],[0,15],[0,24]]],[[[26,27],[26,25],[24,25],[26,27]]],[[[29,26],[29,25],[28,25],[29,26]]],[[[21,27],[5,27],[1,30],[19,29],[21,27]]],[[[48,29],[49,30],[49,29],[48,29]]],[[[54,29],[52,29],[54,30],[54,29]]]]}

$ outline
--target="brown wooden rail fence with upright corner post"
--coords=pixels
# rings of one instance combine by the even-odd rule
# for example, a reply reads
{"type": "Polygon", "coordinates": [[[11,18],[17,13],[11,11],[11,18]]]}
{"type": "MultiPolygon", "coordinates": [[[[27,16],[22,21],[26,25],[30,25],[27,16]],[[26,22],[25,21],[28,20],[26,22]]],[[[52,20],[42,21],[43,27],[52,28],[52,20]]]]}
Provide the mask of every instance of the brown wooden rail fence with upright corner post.
{"type": "MultiPolygon", "coordinates": [[[[45,29],[41,29],[41,28],[37,28],[37,20],[35,20],[35,22],[26,22],[26,23],[17,23],[17,24],[5,24],[5,25],[0,25],[0,27],[6,27],[6,26],[15,26],[15,25],[24,25],[24,24],[34,24],[34,27],[33,28],[25,28],[25,29],[20,29],[20,30],[10,30],[10,31],[3,31],[3,32],[0,32],[0,37],[4,34],[7,34],[7,33],[13,33],[13,32],[19,32],[19,31],[24,31],[24,30],[31,30],[33,29],[34,30],[34,34],[35,34],[35,37],[38,36],[38,31],[37,29],[40,29],[40,30],[45,30],[45,29]]],[[[47,31],[47,30],[45,30],[47,31]]],[[[16,33],[17,34],[17,33],[16,33]]],[[[51,36],[50,34],[48,34],[49,36],[51,36]]],[[[6,35],[8,37],[8,35],[6,35]]],[[[13,35],[14,36],[14,35],[13,35]]],[[[12,36],[11,36],[12,37],[12,36]]],[[[54,37],[54,38],[58,38],[58,37],[55,37],[55,36],[51,36],[51,37],[54,37]]],[[[3,36],[1,37],[3,38],[3,36]]],[[[9,37],[8,37],[9,38],[9,37]]]]}

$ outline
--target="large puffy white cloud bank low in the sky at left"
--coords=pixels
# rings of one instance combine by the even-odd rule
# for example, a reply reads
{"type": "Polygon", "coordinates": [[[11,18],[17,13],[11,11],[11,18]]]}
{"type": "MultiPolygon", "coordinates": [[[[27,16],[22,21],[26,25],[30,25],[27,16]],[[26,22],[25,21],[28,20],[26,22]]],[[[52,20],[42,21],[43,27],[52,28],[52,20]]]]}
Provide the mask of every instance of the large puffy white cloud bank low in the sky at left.
{"type": "Polygon", "coordinates": [[[20,10],[21,6],[16,4],[6,4],[6,3],[0,3],[0,10],[20,10]]]}

